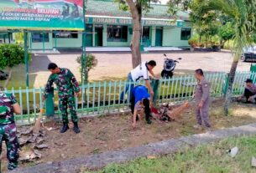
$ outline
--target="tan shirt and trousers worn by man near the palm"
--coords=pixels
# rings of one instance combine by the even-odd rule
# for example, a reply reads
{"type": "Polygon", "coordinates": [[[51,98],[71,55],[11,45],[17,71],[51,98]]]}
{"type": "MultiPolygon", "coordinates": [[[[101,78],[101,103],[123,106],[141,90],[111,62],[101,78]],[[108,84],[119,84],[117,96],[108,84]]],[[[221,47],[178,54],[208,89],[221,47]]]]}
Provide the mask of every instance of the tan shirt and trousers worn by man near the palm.
{"type": "Polygon", "coordinates": [[[202,125],[202,121],[206,127],[211,127],[209,120],[209,104],[210,104],[210,84],[205,78],[196,85],[196,120],[198,125],[202,125]],[[198,104],[202,102],[202,108],[198,108],[198,104]]]}

